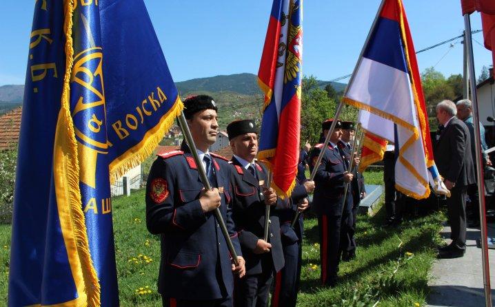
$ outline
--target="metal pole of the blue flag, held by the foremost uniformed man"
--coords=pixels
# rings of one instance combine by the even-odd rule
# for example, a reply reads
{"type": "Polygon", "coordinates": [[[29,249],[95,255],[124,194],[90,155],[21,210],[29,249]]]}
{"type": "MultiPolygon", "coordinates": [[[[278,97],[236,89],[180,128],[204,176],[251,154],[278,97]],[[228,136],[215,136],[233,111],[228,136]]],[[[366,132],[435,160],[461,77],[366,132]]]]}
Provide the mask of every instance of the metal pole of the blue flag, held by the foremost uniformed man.
{"type": "MultiPolygon", "coordinates": [[[[198,168],[199,171],[199,178],[201,178],[201,182],[203,182],[205,189],[211,191],[212,186],[210,184],[210,181],[208,180],[208,176],[206,176],[206,171],[205,171],[205,167],[203,166],[203,162],[199,159],[199,154],[198,151],[196,150],[196,145],[194,144],[194,140],[192,139],[191,131],[189,130],[188,123],[185,121],[184,112],[181,112],[181,115],[178,117],[178,119],[179,119],[179,124],[181,125],[182,128],[182,132],[184,134],[185,141],[188,143],[192,157],[194,158],[194,162],[196,162],[196,167],[198,168]]],[[[227,230],[227,226],[225,226],[225,222],[223,221],[222,213],[218,208],[215,208],[213,213],[215,215],[216,222],[218,222],[220,225],[220,228],[223,233],[223,237],[225,237],[225,242],[227,242],[227,247],[229,248],[230,255],[232,256],[232,261],[234,261],[234,264],[238,266],[239,260],[237,259],[237,253],[234,248],[234,244],[232,244],[232,240],[230,240],[230,235],[227,230]]]]}

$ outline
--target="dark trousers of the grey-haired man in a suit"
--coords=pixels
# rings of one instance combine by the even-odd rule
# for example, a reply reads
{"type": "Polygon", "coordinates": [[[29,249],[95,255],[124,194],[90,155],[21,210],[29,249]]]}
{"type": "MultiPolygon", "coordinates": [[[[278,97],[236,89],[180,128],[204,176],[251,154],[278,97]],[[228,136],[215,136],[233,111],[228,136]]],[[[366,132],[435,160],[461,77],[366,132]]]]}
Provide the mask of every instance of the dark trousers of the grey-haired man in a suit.
{"type": "Polygon", "coordinates": [[[454,187],[447,198],[447,215],[450,223],[450,238],[453,248],[466,248],[466,187],[454,187]]]}

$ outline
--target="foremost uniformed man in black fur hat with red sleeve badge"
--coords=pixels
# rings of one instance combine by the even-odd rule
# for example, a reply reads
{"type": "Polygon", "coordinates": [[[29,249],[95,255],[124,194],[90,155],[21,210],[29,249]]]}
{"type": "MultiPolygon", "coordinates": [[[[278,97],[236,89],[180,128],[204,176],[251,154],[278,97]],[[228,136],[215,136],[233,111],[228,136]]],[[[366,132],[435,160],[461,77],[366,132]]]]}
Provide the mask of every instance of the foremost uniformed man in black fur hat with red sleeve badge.
{"type": "Polygon", "coordinates": [[[184,101],[184,115],[213,187],[206,191],[188,146],[154,161],[146,186],[146,226],[161,235],[158,291],[163,306],[232,306],[234,277],[245,273],[237,233],[228,203],[230,166],[208,152],[216,140],[216,105],[210,96],[184,101]],[[232,264],[228,246],[213,210],[219,208],[236,253],[232,264]]]}

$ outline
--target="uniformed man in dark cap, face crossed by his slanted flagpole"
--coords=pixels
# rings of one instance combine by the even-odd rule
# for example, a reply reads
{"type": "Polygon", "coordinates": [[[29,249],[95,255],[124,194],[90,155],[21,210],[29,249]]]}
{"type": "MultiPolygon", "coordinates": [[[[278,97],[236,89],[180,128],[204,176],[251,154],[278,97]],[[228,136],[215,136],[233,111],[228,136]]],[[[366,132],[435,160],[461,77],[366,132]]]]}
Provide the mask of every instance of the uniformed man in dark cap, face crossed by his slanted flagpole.
{"type": "MultiPolygon", "coordinates": [[[[322,124],[323,136],[329,133],[333,120],[322,124]]],[[[339,271],[339,246],[341,241],[341,222],[352,216],[352,193],[347,190],[347,198],[343,203],[346,182],[352,181],[352,173],[348,173],[344,153],[337,146],[342,135],[341,122],[337,122],[330,136],[327,148],[323,144],[315,145],[310,154],[310,169],[317,167],[314,182],[314,198],[312,207],[318,216],[320,231],[321,282],[325,286],[335,286],[339,271]],[[316,160],[320,151],[324,151],[320,165],[316,160]]]]}

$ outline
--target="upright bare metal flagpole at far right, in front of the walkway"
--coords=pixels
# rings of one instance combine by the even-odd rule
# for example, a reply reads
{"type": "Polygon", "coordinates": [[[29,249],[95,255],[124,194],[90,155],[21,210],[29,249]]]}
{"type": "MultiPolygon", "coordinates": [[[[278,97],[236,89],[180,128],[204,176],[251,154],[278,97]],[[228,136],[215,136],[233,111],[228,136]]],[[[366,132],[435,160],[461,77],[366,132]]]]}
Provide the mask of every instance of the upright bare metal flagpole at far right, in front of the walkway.
{"type": "MultiPolygon", "coordinates": [[[[469,14],[464,14],[465,43],[467,47],[467,70],[469,74],[469,84],[471,87],[473,124],[474,124],[474,147],[476,149],[476,178],[478,180],[478,201],[481,219],[481,255],[483,260],[483,284],[485,286],[485,306],[492,306],[492,293],[489,276],[488,248],[487,248],[487,220],[485,215],[485,182],[483,181],[483,160],[481,160],[481,137],[480,120],[478,116],[478,94],[476,92],[476,80],[474,74],[473,42],[471,36],[471,21],[469,14]]],[[[469,150],[469,149],[468,149],[469,150]]]]}

